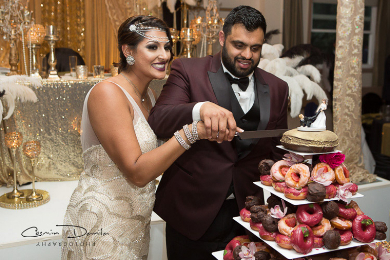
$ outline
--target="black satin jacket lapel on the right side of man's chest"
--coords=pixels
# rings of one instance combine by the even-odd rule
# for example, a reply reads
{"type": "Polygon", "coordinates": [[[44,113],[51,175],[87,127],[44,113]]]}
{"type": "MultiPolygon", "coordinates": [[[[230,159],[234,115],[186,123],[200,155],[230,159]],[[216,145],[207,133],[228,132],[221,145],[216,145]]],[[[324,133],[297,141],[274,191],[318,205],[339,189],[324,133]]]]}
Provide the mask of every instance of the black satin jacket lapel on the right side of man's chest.
{"type": "Polygon", "coordinates": [[[265,130],[269,121],[269,114],[271,109],[271,97],[269,94],[269,86],[267,84],[263,85],[256,78],[256,88],[257,96],[259,99],[259,108],[260,108],[260,122],[257,130],[265,130]]]}

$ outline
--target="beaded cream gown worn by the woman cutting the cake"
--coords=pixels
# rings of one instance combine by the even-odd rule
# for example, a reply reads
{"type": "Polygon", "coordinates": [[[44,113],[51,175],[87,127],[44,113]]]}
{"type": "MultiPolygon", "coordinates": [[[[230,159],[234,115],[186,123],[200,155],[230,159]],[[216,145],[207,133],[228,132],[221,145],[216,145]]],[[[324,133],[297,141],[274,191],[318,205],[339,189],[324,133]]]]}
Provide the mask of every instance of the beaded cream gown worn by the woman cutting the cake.
{"type": "MultiPolygon", "coordinates": [[[[142,153],[147,153],[157,147],[157,137],[135,100],[118,87],[133,106],[135,134],[142,153]]],[[[91,90],[84,101],[81,126],[84,172],[66,209],[62,259],[147,259],[155,183],[144,188],[132,184],[104,151],[89,121],[91,90]]],[[[148,95],[154,105],[150,89],[148,95]]]]}

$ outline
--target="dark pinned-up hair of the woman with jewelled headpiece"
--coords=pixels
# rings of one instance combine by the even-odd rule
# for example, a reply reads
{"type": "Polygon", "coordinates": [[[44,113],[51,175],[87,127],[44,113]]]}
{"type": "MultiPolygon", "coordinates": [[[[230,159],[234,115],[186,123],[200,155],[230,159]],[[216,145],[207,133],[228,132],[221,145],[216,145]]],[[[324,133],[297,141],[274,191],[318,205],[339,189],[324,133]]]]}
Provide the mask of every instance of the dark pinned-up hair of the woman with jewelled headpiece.
{"type": "Polygon", "coordinates": [[[145,39],[143,36],[139,35],[137,32],[130,31],[130,25],[132,24],[139,24],[142,23],[141,26],[145,27],[158,27],[167,33],[167,36],[169,38],[169,45],[170,45],[170,52],[171,52],[171,61],[173,59],[173,52],[172,52],[172,37],[171,32],[169,30],[168,25],[161,19],[156,18],[154,16],[144,16],[144,15],[137,15],[132,16],[126,21],[124,21],[121,26],[118,29],[118,50],[119,50],[119,62],[112,63],[115,67],[118,68],[118,72],[120,73],[122,70],[126,70],[126,68],[129,66],[126,61],[126,56],[123,54],[122,46],[127,44],[132,49],[137,49],[138,44],[145,39]]]}

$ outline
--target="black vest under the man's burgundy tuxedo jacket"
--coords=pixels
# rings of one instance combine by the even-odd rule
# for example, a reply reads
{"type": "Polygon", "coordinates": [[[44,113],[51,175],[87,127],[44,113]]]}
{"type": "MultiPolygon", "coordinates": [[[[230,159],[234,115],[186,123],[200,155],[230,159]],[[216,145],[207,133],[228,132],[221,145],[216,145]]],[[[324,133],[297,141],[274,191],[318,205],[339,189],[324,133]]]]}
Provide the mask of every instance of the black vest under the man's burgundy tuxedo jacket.
{"type": "MultiPolygon", "coordinates": [[[[257,130],[257,127],[260,122],[260,108],[259,108],[259,99],[258,99],[257,88],[256,88],[256,79],[253,79],[253,81],[254,81],[254,89],[255,89],[255,93],[254,93],[255,101],[247,114],[244,114],[243,109],[241,108],[241,105],[237,100],[236,94],[233,91],[233,89],[231,87],[228,88],[230,102],[231,102],[231,112],[233,113],[233,117],[236,120],[237,126],[244,129],[245,131],[257,130]]],[[[252,150],[253,148],[252,141],[253,141],[252,139],[241,140],[238,137],[235,138],[239,160],[245,157],[246,155],[248,155],[248,152],[252,150]]]]}

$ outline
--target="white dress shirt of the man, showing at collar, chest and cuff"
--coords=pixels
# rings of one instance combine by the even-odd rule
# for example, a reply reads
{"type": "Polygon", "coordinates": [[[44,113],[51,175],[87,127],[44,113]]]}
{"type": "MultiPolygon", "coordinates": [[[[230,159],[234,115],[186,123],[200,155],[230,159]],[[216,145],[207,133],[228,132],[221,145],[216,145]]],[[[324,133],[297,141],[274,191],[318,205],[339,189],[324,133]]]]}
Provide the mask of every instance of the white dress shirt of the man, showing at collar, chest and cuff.
{"type": "MultiPolygon", "coordinates": [[[[223,72],[227,72],[227,73],[229,73],[229,75],[231,77],[238,79],[236,76],[233,76],[229,70],[227,70],[225,68],[222,61],[221,61],[221,63],[222,63],[223,72]]],[[[253,73],[254,72],[250,73],[250,75],[248,76],[249,85],[248,85],[248,88],[246,89],[246,91],[242,91],[237,84],[231,84],[231,88],[235,92],[237,100],[239,101],[240,106],[243,109],[244,114],[248,113],[248,111],[251,109],[253,103],[255,102],[255,84],[254,84],[253,73]]],[[[201,114],[201,106],[206,102],[209,102],[209,101],[198,102],[197,104],[195,104],[193,106],[193,108],[192,108],[192,121],[201,120],[201,115],[200,115],[201,114]]]]}

